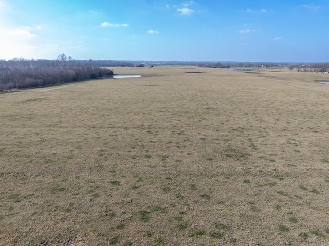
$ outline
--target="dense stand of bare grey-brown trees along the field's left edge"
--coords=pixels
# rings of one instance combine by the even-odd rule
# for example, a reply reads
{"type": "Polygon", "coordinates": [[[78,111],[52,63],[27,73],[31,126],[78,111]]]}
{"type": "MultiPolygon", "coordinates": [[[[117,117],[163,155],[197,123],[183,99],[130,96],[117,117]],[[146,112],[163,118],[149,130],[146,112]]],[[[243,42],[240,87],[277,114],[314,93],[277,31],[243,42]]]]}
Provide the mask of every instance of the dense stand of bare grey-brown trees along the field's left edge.
{"type": "Polygon", "coordinates": [[[60,54],[56,60],[0,59],[0,92],[49,86],[113,75],[99,61],[76,61],[60,54]]]}

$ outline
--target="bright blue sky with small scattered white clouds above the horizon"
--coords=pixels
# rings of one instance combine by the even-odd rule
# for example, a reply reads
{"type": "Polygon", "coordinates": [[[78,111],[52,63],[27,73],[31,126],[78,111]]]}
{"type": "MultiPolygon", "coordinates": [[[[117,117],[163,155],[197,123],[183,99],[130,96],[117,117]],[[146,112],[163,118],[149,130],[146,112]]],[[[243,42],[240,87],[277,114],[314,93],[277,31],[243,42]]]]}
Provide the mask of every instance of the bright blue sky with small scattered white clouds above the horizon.
{"type": "Polygon", "coordinates": [[[329,1],[0,0],[0,59],[328,62],[329,1]]]}

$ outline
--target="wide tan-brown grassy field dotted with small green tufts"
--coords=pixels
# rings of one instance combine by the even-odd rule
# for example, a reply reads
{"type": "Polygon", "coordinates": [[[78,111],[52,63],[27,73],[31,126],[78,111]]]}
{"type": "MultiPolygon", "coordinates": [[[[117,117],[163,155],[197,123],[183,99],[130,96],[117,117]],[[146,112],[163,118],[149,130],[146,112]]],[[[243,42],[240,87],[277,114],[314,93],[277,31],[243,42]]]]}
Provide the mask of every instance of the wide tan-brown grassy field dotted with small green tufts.
{"type": "Polygon", "coordinates": [[[0,94],[0,245],[329,244],[328,74],[114,73],[0,94]]]}

